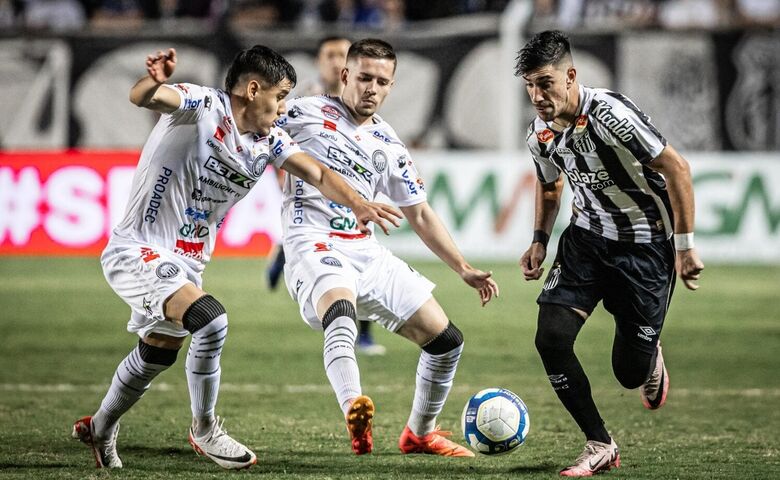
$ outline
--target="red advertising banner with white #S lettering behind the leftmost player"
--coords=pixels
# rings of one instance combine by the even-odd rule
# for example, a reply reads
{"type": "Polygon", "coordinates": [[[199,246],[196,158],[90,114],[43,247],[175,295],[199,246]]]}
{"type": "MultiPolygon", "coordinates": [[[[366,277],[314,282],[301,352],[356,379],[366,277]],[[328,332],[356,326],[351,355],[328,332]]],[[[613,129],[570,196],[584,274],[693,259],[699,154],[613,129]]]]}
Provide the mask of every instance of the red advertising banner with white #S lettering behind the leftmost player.
{"type": "MultiPolygon", "coordinates": [[[[138,156],[0,152],[0,255],[99,255],[124,215],[138,156]]],[[[267,255],[281,235],[280,211],[268,172],[225,219],[215,254],[267,255]]]]}

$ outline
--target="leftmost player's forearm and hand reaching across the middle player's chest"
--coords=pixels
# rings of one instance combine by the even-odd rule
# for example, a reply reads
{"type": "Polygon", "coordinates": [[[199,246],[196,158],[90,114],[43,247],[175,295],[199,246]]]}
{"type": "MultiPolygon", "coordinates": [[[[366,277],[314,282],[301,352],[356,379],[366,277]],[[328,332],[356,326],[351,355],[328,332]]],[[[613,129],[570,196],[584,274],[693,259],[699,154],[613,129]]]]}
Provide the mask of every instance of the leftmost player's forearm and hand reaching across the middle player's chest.
{"type": "Polygon", "coordinates": [[[396,227],[399,226],[398,219],[401,218],[401,213],[398,210],[384,203],[367,201],[341,177],[306,153],[290,155],[282,164],[282,168],[316,187],[327,198],[351,208],[357,219],[358,228],[365,234],[371,233],[368,228],[369,222],[377,224],[385,235],[390,233],[384,223],[385,220],[396,227]]]}

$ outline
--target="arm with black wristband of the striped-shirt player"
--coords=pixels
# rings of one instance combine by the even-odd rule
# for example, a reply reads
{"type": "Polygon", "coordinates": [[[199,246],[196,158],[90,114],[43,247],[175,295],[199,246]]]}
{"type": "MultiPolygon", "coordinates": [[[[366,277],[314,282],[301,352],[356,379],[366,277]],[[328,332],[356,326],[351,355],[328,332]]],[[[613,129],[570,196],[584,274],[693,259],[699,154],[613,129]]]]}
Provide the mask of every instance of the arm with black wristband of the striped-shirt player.
{"type": "Polygon", "coordinates": [[[562,191],[563,178],[560,176],[550,183],[536,181],[534,236],[531,246],[520,257],[520,268],[526,280],[538,280],[544,273],[542,263],[547,256],[547,241],[561,206],[562,191]]]}

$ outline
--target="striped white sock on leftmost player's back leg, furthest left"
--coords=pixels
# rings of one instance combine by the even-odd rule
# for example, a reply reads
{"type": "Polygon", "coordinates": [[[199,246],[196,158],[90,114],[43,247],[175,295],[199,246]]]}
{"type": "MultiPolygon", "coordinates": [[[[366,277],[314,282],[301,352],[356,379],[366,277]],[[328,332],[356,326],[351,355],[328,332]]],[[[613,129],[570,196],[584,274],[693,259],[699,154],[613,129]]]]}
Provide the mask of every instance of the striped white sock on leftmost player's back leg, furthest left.
{"type": "Polygon", "coordinates": [[[141,358],[139,348],[136,346],[119,363],[100,409],[92,416],[92,425],[98,439],[111,438],[119,417],[144,395],[154,377],[170,366],[145,362],[141,358]]]}

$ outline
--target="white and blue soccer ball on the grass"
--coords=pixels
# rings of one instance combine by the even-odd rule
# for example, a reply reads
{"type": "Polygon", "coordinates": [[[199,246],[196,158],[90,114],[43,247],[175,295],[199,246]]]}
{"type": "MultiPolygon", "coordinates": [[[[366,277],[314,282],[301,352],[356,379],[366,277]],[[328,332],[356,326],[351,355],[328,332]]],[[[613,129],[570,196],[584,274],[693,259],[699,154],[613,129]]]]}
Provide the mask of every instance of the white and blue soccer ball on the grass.
{"type": "Polygon", "coordinates": [[[500,455],[523,444],[530,418],[520,397],[504,388],[486,388],[466,402],[460,425],[474,451],[500,455]]]}

